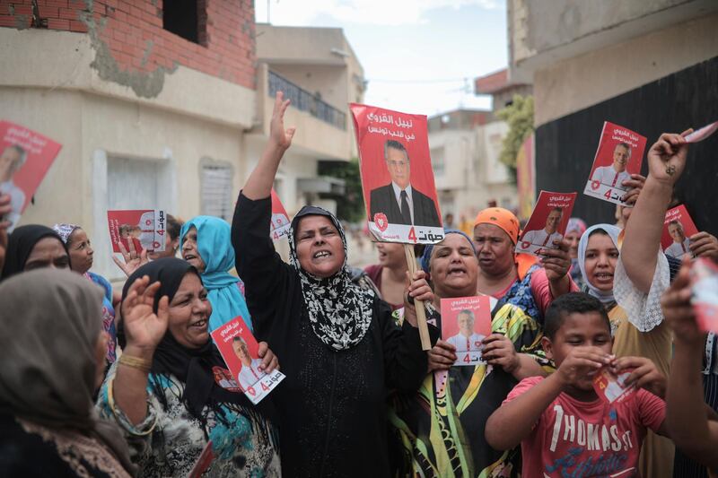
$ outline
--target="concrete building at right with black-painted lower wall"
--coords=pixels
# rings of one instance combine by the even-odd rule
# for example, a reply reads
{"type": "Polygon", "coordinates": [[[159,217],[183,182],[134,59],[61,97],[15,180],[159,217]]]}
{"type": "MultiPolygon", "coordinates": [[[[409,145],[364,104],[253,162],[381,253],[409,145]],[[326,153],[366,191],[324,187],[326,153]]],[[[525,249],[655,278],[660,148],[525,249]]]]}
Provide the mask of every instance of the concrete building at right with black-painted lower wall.
{"type": "MultiPolygon", "coordinates": [[[[507,5],[509,79],[533,84],[538,189],[582,191],[603,121],[646,136],[650,147],[664,131],[718,117],[714,0],[507,5]]],[[[716,142],[709,138],[691,149],[692,167],[679,183],[699,229],[718,227],[709,217],[714,190],[696,187],[718,178],[716,142]]],[[[579,195],[574,213],[611,221],[613,208],[579,195]]]]}

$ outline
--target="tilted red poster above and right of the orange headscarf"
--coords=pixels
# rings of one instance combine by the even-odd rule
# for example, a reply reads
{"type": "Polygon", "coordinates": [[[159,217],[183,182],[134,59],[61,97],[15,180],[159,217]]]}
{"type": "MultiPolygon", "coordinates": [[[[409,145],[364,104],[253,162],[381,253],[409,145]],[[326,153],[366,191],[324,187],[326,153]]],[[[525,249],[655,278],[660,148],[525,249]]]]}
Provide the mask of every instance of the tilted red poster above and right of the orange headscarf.
{"type": "Polygon", "coordinates": [[[541,191],[516,244],[516,252],[539,256],[543,249],[558,248],[554,241],[564,239],[576,196],[577,193],[541,191]]]}

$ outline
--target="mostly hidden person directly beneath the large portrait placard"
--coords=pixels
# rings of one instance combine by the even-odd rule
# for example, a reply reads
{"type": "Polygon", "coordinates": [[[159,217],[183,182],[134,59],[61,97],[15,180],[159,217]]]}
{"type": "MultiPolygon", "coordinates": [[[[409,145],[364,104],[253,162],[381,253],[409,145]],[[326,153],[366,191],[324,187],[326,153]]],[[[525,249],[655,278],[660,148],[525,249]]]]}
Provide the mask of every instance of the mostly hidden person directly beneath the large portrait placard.
{"type": "Polygon", "coordinates": [[[381,292],[381,299],[392,310],[404,307],[404,291],[407,289],[407,256],[404,245],[397,242],[377,242],[379,264],[368,265],[364,272],[381,292]]]}

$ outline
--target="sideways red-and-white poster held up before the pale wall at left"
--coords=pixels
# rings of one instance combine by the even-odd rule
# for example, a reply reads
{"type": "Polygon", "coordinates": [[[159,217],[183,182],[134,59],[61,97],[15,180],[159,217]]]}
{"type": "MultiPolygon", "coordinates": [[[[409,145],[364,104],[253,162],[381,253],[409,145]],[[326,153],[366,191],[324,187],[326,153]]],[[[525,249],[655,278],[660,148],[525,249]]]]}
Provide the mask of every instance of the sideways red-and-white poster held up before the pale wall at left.
{"type": "Polygon", "coordinates": [[[115,210],[107,212],[109,240],[112,251],[121,252],[119,243],[129,250],[132,239],[136,250],[161,252],[164,250],[166,215],[159,209],[115,210]]]}

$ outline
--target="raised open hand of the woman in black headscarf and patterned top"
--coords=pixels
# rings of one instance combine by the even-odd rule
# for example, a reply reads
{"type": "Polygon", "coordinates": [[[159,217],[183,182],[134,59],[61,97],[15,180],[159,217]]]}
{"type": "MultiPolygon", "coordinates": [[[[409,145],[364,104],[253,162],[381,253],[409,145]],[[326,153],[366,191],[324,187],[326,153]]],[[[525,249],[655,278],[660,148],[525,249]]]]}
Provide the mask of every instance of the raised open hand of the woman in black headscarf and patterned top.
{"type": "Polygon", "coordinates": [[[170,299],[167,296],[162,297],[157,313],[153,310],[154,296],[159,289],[160,282],[150,285],[147,275],[130,285],[127,297],[122,301],[122,322],[127,335],[126,351],[134,349],[151,354],[167,331],[170,299]]]}

